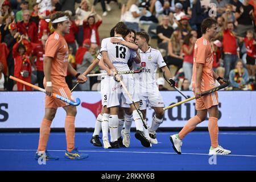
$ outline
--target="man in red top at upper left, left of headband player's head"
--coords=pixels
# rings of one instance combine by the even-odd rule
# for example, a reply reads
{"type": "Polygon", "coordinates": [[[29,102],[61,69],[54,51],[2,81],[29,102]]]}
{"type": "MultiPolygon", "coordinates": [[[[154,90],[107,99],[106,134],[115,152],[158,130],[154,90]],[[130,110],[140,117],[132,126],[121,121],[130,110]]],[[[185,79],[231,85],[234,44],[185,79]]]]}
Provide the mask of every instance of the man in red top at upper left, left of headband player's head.
{"type": "Polygon", "coordinates": [[[23,11],[23,20],[17,23],[18,32],[28,35],[32,43],[38,43],[38,27],[30,20],[30,11],[23,11]]]}

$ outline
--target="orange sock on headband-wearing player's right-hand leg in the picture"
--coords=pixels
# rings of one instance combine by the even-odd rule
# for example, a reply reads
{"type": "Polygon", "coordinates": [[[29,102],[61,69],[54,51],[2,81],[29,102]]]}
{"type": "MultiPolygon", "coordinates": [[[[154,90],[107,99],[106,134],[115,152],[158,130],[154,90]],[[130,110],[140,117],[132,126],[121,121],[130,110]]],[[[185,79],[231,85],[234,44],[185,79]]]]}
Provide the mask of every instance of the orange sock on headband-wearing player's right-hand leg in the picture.
{"type": "Polygon", "coordinates": [[[65,133],[67,150],[71,152],[75,148],[75,117],[67,115],[65,118],[65,133]]]}

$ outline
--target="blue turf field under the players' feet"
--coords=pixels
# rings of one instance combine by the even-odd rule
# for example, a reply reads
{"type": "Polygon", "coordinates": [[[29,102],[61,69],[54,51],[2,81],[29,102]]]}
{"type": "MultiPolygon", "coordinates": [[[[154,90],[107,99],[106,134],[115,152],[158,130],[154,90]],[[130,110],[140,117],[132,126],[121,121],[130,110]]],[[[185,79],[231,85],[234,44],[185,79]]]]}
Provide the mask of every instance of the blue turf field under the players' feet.
{"type": "Polygon", "coordinates": [[[216,165],[209,164],[208,132],[187,135],[182,155],[172,150],[170,134],[158,133],[159,144],[144,148],[131,133],[130,148],[105,150],[89,143],[92,133],[76,133],[76,146],[89,154],[77,161],[64,158],[65,134],[51,133],[48,151],[60,159],[39,165],[34,160],[38,133],[0,133],[0,170],[256,170],[256,131],[220,131],[220,145],[232,155],[217,156],[216,165]]]}

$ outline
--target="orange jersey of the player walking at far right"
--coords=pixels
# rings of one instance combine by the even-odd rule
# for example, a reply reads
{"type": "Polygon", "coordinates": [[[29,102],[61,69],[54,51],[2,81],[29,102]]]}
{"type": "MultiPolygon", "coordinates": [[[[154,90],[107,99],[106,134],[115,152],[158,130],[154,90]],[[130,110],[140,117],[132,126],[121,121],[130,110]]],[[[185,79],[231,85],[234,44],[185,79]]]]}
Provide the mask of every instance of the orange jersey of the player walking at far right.
{"type": "Polygon", "coordinates": [[[215,81],[212,71],[213,51],[209,40],[204,39],[203,36],[196,41],[193,62],[192,90],[196,90],[196,63],[204,64],[200,81],[201,92],[214,88],[215,81]]]}

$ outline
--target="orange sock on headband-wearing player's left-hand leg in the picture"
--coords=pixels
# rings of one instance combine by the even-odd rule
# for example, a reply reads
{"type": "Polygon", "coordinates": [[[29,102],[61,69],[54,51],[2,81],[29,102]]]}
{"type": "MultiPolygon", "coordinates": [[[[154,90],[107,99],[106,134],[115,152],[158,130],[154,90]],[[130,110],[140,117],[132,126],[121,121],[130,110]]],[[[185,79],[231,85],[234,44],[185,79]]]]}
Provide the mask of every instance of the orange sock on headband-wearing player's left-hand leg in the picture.
{"type": "Polygon", "coordinates": [[[51,131],[51,121],[43,118],[40,127],[40,137],[39,137],[39,144],[38,144],[38,151],[46,151],[46,145],[49,138],[49,133],[51,131]]]}

